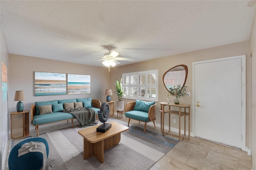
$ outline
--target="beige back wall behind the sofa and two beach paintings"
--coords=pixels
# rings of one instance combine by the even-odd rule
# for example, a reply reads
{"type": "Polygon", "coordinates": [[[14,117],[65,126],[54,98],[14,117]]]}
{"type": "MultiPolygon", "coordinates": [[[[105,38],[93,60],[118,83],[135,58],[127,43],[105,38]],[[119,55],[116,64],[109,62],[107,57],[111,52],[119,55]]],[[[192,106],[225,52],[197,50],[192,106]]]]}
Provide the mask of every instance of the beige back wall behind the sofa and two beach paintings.
{"type": "MultiPolygon", "coordinates": [[[[14,101],[14,95],[15,91],[17,90],[24,90],[25,92],[26,100],[22,101],[24,103],[24,110],[30,110],[30,105],[33,105],[36,101],[76,99],[86,97],[106,101],[105,90],[110,87],[108,86],[108,69],[105,67],[95,67],[14,54],[9,54],[9,61],[9,112],[16,111],[17,101],[14,101]],[[34,71],[90,75],[91,93],[80,95],[35,96],[34,71]]],[[[31,128],[32,127],[30,127],[30,129],[31,128]]]]}

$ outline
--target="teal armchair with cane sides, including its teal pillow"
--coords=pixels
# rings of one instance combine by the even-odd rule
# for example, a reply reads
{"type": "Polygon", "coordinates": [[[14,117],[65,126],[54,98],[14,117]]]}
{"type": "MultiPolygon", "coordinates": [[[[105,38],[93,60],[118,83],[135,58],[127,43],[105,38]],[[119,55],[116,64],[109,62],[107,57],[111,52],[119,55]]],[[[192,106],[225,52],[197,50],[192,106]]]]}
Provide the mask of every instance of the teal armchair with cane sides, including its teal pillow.
{"type": "Polygon", "coordinates": [[[130,124],[130,119],[136,120],[140,122],[144,122],[144,133],[146,131],[146,126],[148,122],[153,122],[155,125],[156,120],[156,104],[155,102],[147,102],[147,101],[131,101],[128,102],[125,106],[125,117],[129,119],[128,127],[130,124]]]}

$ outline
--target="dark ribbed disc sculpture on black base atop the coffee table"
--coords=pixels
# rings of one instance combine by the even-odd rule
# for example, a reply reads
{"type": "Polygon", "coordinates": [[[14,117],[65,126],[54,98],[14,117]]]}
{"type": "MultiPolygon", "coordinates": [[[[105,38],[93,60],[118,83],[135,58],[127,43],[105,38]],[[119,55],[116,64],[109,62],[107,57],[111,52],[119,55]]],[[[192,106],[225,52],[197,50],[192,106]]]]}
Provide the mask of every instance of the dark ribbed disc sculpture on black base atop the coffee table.
{"type": "Polygon", "coordinates": [[[97,132],[105,133],[106,131],[108,131],[108,129],[112,127],[110,123],[105,123],[108,120],[108,117],[109,117],[109,105],[108,103],[104,102],[100,106],[100,111],[98,111],[98,119],[103,124],[96,129],[97,132]]]}

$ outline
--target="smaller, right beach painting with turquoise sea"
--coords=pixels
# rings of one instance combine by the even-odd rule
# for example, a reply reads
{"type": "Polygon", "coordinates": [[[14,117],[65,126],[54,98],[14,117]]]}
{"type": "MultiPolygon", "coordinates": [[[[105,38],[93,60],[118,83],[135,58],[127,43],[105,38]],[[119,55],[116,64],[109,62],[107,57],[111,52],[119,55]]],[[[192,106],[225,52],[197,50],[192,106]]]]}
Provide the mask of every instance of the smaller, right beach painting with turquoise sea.
{"type": "Polygon", "coordinates": [[[68,74],[68,95],[91,93],[90,75],[68,74]]]}

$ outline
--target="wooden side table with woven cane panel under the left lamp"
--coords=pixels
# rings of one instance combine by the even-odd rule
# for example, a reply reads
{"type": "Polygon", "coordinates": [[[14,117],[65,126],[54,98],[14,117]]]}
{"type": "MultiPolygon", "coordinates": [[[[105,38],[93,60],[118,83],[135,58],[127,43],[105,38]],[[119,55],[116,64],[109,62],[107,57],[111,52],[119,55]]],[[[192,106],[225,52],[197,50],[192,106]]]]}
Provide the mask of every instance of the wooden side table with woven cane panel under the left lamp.
{"type": "Polygon", "coordinates": [[[11,112],[11,138],[29,136],[29,111],[11,112]]]}

